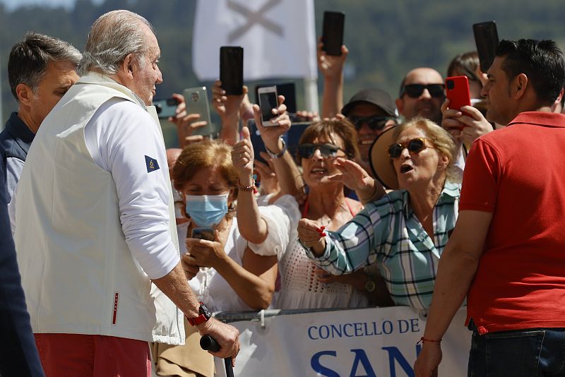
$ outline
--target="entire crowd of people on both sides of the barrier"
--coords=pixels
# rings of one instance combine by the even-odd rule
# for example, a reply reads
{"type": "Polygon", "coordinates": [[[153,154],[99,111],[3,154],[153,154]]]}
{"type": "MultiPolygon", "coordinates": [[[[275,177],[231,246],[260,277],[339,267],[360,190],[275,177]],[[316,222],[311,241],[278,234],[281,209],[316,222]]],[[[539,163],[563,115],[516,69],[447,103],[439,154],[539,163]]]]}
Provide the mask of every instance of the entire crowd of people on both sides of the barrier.
{"type": "Polygon", "coordinates": [[[488,72],[476,52],[456,56],[461,109],[429,67],[399,80],[396,101],[361,88],[344,104],[349,52],[322,47],[321,112],[299,112],[310,125],[296,155],[283,96],[263,126],[248,88],[226,95],[219,80],[219,138],[193,136],[206,124],[173,94],[180,148],[165,150],[151,107],[160,48],[136,13],[100,16],[83,54],[35,32],[13,47],[0,321],[18,347],[2,376],[213,376],[202,335],[216,357],[239,352],[214,312],[395,305],[429,311],[415,374],[432,376],[465,297],[470,375],[565,373],[556,44],[501,41],[488,72]]]}

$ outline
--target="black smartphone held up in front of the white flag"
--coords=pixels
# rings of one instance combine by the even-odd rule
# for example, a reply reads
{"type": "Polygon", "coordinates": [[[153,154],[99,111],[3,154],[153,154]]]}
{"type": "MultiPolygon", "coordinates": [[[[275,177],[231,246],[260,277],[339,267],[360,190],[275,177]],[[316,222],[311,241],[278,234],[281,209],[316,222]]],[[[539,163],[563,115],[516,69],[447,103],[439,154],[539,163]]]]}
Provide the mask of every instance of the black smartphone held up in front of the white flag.
{"type": "Polygon", "coordinates": [[[220,47],[220,81],[226,95],[243,94],[243,47],[220,47]]]}

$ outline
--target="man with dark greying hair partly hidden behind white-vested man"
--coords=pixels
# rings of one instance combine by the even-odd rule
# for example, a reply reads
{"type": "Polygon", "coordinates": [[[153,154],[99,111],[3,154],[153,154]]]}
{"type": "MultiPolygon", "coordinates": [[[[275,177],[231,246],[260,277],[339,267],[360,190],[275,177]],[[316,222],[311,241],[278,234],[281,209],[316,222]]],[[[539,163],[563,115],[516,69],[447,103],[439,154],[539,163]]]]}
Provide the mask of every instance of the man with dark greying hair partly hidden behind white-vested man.
{"type": "Polygon", "coordinates": [[[8,58],[8,81],[18,101],[0,133],[6,150],[8,203],[18,184],[25,157],[40,124],[71,85],[76,83],[76,67],[81,53],[68,42],[49,35],[28,32],[16,43],[8,58]]]}

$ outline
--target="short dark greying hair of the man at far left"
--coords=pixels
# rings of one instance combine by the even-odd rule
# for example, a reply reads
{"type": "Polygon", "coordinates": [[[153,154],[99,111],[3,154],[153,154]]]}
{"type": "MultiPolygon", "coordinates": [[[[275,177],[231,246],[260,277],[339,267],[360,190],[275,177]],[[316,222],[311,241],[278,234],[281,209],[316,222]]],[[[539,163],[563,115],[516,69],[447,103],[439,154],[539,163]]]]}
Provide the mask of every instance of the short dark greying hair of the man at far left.
{"type": "Polygon", "coordinates": [[[81,57],[69,42],[37,32],[25,33],[23,40],[12,47],[8,58],[8,81],[13,96],[18,100],[16,87],[21,83],[37,94],[49,62],[69,61],[78,66],[81,57]]]}

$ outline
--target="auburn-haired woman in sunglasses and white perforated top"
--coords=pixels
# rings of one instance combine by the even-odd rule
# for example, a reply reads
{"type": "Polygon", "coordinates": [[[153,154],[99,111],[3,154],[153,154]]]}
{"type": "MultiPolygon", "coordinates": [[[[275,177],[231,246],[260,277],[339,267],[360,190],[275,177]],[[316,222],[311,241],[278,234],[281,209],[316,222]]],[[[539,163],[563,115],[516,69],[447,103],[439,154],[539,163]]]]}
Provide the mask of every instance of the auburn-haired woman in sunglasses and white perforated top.
{"type": "MultiPolygon", "coordinates": [[[[256,116],[256,121],[260,124],[261,119],[256,116]]],[[[260,129],[264,140],[263,130],[269,130],[262,126],[260,129]]],[[[302,217],[319,222],[324,229],[339,229],[362,209],[361,203],[345,197],[342,181],[335,178],[340,174],[338,159],[352,160],[359,156],[355,127],[345,119],[311,124],[300,138],[297,155],[307,185],[306,201],[299,208],[302,217]]],[[[275,163],[278,163],[276,159],[275,163]]],[[[378,277],[369,276],[365,270],[336,277],[316,268],[299,243],[295,229],[289,229],[289,242],[278,255],[281,288],[273,306],[276,309],[368,306],[367,294],[374,297],[378,277]]],[[[386,289],[381,285],[383,291],[386,289]]]]}

